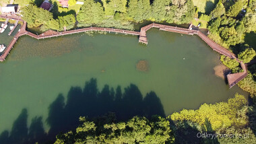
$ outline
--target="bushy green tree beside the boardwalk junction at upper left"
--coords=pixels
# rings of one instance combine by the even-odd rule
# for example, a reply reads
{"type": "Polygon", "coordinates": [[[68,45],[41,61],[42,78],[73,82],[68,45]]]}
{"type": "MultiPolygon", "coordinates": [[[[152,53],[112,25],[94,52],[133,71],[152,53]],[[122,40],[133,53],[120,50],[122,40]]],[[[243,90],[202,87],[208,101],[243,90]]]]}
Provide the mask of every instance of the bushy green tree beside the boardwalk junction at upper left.
{"type": "Polygon", "coordinates": [[[38,27],[46,24],[53,19],[53,14],[49,11],[36,7],[36,5],[28,4],[22,8],[23,20],[28,23],[28,27],[38,27]]]}

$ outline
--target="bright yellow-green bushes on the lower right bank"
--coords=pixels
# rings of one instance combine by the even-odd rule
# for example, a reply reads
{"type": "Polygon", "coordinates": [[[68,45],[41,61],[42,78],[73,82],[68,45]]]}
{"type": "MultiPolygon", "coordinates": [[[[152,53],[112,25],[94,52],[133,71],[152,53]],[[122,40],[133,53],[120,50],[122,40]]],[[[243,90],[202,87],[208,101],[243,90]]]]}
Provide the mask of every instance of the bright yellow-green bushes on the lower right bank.
{"type": "Polygon", "coordinates": [[[228,102],[219,102],[216,104],[202,104],[198,110],[181,110],[168,116],[174,121],[189,120],[206,127],[210,123],[212,130],[227,128],[236,124],[237,110],[240,110],[247,104],[244,96],[236,94],[228,102]],[[207,122],[205,121],[207,120],[207,122]]]}

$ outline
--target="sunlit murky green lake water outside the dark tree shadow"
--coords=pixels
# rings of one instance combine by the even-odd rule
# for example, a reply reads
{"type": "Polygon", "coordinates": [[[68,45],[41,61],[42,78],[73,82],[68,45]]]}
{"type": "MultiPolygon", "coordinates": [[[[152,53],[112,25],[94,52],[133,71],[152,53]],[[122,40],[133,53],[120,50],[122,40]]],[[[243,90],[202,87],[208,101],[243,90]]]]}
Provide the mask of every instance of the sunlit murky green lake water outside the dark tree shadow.
{"type": "MultiPolygon", "coordinates": [[[[0,40],[9,38],[0,34],[0,40]]],[[[146,46],[138,43],[137,36],[119,34],[45,40],[22,36],[7,61],[0,63],[0,133],[11,129],[22,108],[28,110],[28,123],[42,116],[49,129],[48,108],[58,94],[67,96],[71,86],[84,87],[92,77],[98,89],[134,83],[143,96],[156,92],[166,116],[227,100],[236,92],[247,95],[237,86],[229,89],[214,74],[219,55],[199,37],[152,29],[148,40],[146,46]],[[149,71],[137,71],[139,60],[148,61],[149,71]]]]}

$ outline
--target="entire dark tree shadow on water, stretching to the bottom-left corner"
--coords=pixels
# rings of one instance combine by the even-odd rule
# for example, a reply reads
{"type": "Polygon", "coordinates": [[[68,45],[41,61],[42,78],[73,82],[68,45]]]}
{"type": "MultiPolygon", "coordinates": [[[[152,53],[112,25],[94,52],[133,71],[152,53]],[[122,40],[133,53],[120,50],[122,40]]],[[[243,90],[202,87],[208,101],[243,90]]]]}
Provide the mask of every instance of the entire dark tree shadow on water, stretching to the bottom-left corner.
{"type": "Polygon", "coordinates": [[[158,114],[165,117],[164,108],[154,92],[143,98],[139,88],[131,84],[122,92],[121,87],[113,89],[104,85],[98,90],[96,79],[90,79],[82,87],[71,87],[67,94],[67,102],[62,94],[49,106],[49,116],[46,118],[50,126],[46,134],[42,117],[32,118],[30,127],[27,126],[28,111],[23,109],[20,116],[13,122],[11,132],[3,131],[0,143],[35,143],[45,140],[54,141],[55,136],[62,132],[75,129],[79,125],[79,116],[87,116],[90,120],[103,118],[105,122],[128,120],[133,116],[158,114]],[[106,115],[108,114],[108,115],[106,115]]]}

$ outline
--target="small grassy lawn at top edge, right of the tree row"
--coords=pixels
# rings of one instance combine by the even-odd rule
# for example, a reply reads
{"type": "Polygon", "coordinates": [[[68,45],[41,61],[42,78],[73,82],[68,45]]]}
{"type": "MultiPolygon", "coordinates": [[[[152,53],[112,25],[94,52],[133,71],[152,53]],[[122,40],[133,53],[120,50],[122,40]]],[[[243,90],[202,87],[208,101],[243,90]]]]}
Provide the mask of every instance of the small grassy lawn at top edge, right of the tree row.
{"type": "Polygon", "coordinates": [[[193,3],[198,7],[199,12],[209,14],[218,3],[218,0],[193,0],[193,3]]]}

